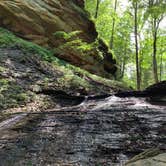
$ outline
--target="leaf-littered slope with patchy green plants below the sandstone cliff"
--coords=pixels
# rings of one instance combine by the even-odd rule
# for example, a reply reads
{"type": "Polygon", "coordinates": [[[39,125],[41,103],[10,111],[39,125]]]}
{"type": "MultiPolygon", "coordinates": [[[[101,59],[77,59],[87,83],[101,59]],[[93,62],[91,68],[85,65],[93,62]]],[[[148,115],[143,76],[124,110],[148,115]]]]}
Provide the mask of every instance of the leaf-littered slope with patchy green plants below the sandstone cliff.
{"type": "Polygon", "coordinates": [[[24,111],[29,112],[62,103],[78,104],[84,96],[108,95],[123,89],[116,81],[85,73],[59,59],[48,62],[33,49],[0,48],[0,111],[13,108],[9,110],[13,112],[25,106],[24,111]]]}

